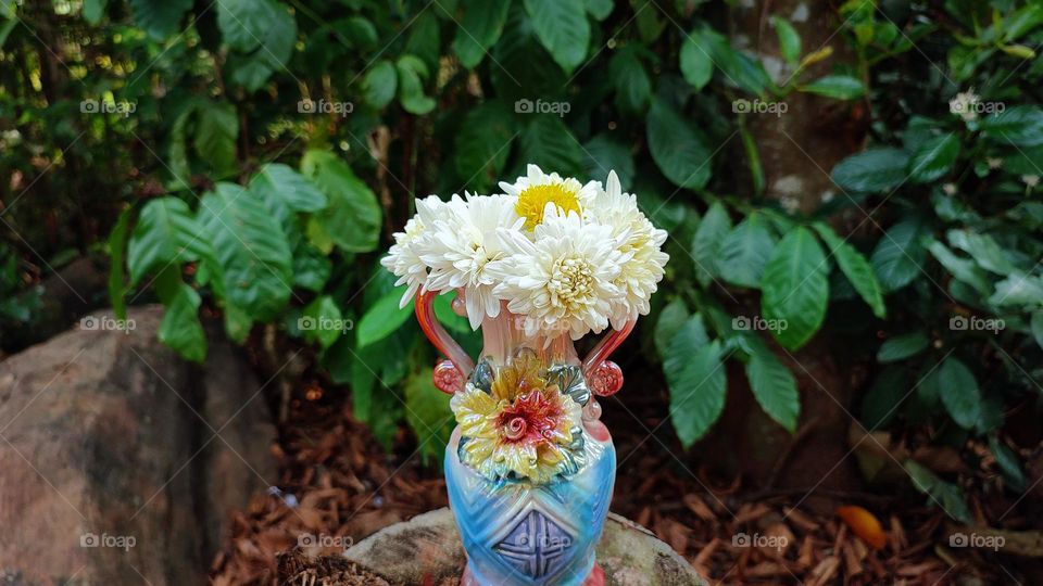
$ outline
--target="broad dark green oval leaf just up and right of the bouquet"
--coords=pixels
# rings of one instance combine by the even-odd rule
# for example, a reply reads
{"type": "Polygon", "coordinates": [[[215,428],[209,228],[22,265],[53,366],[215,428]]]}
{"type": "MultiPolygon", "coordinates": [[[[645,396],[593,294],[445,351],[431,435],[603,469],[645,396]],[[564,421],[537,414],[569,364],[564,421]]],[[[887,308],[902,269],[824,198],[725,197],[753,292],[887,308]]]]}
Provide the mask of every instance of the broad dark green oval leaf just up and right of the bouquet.
{"type": "Polygon", "coordinates": [[[652,101],[646,122],[649,150],[663,175],[678,187],[705,187],[712,152],[702,132],[659,100],[652,101]]]}

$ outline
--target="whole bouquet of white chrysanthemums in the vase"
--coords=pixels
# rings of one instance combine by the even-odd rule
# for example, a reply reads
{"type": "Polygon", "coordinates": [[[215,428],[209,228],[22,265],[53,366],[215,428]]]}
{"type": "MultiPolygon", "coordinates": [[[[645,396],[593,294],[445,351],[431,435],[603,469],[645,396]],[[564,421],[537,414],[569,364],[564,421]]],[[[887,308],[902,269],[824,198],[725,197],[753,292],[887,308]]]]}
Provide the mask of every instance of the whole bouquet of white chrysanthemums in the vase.
{"type": "Polygon", "coordinates": [[[402,306],[420,291],[462,290],[475,329],[502,302],[526,333],[568,331],[573,340],[621,329],[649,313],[669,256],[666,231],[624,193],[615,171],[586,184],[529,165],[494,195],[465,193],[417,201],[381,264],[407,284],[402,306]]]}

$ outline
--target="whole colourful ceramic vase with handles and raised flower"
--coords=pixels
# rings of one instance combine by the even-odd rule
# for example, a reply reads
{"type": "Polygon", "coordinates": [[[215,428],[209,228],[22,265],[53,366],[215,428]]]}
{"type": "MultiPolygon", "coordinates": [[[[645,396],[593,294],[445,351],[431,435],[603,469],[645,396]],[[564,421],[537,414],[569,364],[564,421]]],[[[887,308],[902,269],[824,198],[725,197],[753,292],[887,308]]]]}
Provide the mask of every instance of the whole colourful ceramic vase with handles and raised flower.
{"type": "MultiPolygon", "coordinates": [[[[457,292],[454,307],[460,307],[457,292]]],[[[616,454],[598,396],[623,385],[608,355],[633,322],[580,360],[567,332],[526,333],[506,310],[482,322],[477,365],[435,319],[433,293],[416,315],[447,357],[436,385],[452,394],[457,426],[445,450],[449,501],[468,585],[599,585],[594,560],[615,481],[616,454]]]]}

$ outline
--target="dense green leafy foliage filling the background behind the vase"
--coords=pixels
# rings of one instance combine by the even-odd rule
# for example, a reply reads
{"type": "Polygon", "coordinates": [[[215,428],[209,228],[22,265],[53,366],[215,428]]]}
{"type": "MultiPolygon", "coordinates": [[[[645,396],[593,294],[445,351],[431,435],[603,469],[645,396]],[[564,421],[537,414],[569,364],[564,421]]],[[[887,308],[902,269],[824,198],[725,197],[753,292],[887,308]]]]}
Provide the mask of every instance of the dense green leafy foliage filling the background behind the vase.
{"type": "MultiPolygon", "coordinates": [[[[391,233],[414,196],[527,163],[615,169],[670,233],[624,366],[662,368],[625,392],[678,449],[757,433],[718,421],[743,379],[799,437],[829,394],[804,357],[827,353],[860,373],[834,399],[854,438],[827,441],[871,437],[966,521],[962,492],[1025,491],[1040,441],[1043,7],[852,0],[814,9],[840,24],[825,42],[803,10],[762,15],[758,59],[731,7],[694,0],[0,0],[0,324],[33,329],[41,281],[104,255],[106,303],[161,302],[186,358],[208,319],[304,347],[385,446],[404,421],[437,459],[448,400],[377,264],[391,233]],[[829,189],[784,189],[800,144],[764,137],[789,116],[851,144],[801,160],[829,189]]],[[[858,457],[876,482],[887,458],[858,457]]]]}

